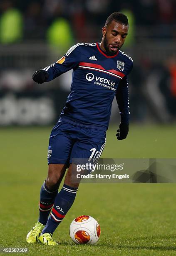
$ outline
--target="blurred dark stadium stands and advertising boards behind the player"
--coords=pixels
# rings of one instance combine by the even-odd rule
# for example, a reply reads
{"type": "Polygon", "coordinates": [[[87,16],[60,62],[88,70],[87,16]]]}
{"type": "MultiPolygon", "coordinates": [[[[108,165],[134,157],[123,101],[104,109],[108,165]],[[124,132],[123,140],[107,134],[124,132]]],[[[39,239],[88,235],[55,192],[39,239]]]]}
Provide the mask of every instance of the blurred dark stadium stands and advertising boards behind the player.
{"type": "MultiPolygon", "coordinates": [[[[1,0],[0,126],[52,125],[69,94],[72,71],[37,85],[33,72],[73,44],[101,41],[107,16],[121,11],[130,30],[122,51],[133,57],[131,122],[176,120],[175,0],[1,0]]],[[[114,101],[111,123],[119,123],[114,101]]]]}

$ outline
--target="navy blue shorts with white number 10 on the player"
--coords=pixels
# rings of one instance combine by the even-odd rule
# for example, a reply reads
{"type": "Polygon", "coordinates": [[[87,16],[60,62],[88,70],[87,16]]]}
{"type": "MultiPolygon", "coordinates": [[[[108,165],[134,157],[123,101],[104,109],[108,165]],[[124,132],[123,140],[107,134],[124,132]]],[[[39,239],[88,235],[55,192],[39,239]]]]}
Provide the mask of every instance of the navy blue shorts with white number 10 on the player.
{"type": "Polygon", "coordinates": [[[72,159],[98,159],[106,143],[106,132],[59,121],[52,129],[48,164],[69,164],[72,159]]]}

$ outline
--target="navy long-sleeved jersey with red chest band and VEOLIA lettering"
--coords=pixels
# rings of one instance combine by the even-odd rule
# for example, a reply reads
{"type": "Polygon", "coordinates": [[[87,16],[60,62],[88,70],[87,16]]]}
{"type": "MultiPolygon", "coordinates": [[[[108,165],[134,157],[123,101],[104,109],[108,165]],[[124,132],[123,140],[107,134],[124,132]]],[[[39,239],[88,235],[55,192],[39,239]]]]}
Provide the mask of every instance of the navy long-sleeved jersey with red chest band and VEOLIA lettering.
{"type": "Polygon", "coordinates": [[[64,105],[60,120],[75,125],[106,131],[116,95],[121,121],[129,122],[127,75],[133,61],[122,51],[114,56],[100,49],[99,43],[76,44],[51,66],[47,81],[73,69],[71,92],[64,105]]]}

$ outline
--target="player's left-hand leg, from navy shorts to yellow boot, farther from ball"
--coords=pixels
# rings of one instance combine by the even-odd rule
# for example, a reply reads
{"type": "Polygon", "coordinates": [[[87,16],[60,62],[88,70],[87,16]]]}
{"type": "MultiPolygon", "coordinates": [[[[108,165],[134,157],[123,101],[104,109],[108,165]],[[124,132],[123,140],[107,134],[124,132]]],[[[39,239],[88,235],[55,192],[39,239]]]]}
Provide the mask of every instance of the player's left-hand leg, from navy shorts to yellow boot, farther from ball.
{"type": "Polygon", "coordinates": [[[40,236],[42,229],[47,223],[48,216],[54,205],[55,197],[58,194],[59,184],[68,167],[69,156],[72,148],[72,140],[64,132],[68,125],[62,123],[53,128],[48,148],[48,175],[40,189],[40,216],[36,225],[27,235],[28,243],[35,243],[40,236]]]}

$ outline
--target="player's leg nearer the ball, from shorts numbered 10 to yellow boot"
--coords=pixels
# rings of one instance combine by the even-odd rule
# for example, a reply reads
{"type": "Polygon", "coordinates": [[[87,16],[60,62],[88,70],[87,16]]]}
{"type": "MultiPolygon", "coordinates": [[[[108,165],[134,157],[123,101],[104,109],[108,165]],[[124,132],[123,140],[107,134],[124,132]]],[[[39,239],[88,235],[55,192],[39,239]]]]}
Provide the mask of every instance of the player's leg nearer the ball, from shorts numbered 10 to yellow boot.
{"type": "MultiPolygon", "coordinates": [[[[87,129],[84,131],[84,129],[81,128],[82,132],[82,140],[77,141],[74,143],[74,146],[72,148],[71,158],[81,158],[81,159],[89,159],[92,155],[92,148],[97,149],[97,158],[100,157],[102,154],[102,151],[105,146],[106,141],[106,133],[99,132],[99,136],[97,136],[97,130],[93,130],[92,134],[90,134],[87,129]]],[[[80,134],[79,134],[80,136],[80,134]]],[[[76,193],[79,186],[78,179],[74,179],[73,177],[73,164],[70,164],[69,169],[67,171],[64,185],[58,195],[55,198],[55,203],[52,209],[52,212],[50,214],[50,217],[47,221],[47,224],[45,228],[42,230],[42,236],[40,236],[39,240],[42,241],[42,243],[47,244],[47,239],[51,239],[50,234],[52,234],[55,229],[58,227],[58,225],[62,222],[65,215],[69,211],[70,207],[72,206],[74,199],[76,197],[76,193]],[[47,233],[47,237],[45,239],[45,233],[47,233]],[[50,236],[49,236],[50,235],[50,236]],[[44,242],[43,242],[44,238],[44,242]]]]}

